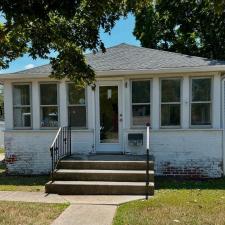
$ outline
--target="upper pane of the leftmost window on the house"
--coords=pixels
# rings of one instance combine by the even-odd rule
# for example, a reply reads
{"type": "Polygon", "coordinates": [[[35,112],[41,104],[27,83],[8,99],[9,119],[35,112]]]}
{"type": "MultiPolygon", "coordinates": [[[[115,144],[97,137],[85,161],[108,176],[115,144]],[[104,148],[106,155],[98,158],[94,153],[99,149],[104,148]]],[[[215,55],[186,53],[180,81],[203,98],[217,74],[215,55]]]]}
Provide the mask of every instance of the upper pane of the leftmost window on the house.
{"type": "Polygon", "coordinates": [[[30,105],[30,85],[13,86],[13,104],[30,105]]]}

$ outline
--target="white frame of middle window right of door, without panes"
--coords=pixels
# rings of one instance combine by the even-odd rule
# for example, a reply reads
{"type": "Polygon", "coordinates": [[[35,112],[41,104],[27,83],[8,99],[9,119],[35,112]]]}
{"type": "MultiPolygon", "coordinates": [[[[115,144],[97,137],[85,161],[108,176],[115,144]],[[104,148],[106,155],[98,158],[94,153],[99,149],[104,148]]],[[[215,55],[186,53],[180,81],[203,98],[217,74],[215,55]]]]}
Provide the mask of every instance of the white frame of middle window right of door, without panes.
{"type": "Polygon", "coordinates": [[[182,124],[182,93],[183,93],[183,78],[182,77],[167,77],[167,78],[160,78],[160,85],[159,85],[159,123],[160,128],[166,129],[177,129],[181,128],[182,124]],[[162,102],[162,81],[163,80],[179,80],[180,81],[180,101],[179,102],[162,102]],[[162,125],[162,105],[180,105],[180,125],[162,125]]]}

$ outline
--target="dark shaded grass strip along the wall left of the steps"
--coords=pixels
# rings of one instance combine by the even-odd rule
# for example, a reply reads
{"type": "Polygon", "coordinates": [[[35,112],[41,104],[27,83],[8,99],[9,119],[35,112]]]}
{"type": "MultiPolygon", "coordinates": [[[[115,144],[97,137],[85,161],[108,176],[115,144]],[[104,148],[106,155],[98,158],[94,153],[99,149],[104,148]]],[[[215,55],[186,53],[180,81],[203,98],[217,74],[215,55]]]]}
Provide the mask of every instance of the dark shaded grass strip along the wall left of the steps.
{"type": "MultiPolygon", "coordinates": [[[[48,175],[7,175],[5,165],[0,164],[0,190],[4,189],[3,186],[43,186],[49,181],[48,175]]],[[[8,188],[6,188],[8,189],[8,188]]]]}

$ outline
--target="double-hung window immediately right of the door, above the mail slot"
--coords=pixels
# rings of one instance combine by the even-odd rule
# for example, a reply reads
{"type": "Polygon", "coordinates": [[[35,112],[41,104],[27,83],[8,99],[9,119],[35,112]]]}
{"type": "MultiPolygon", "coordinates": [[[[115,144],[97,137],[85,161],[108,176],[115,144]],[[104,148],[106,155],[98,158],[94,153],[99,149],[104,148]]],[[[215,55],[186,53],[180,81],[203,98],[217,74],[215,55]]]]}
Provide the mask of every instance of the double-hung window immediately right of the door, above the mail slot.
{"type": "Polygon", "coordinates": [[[132,126],[146,126],[150,123],[151,81],[132,81],[132,126]]]}

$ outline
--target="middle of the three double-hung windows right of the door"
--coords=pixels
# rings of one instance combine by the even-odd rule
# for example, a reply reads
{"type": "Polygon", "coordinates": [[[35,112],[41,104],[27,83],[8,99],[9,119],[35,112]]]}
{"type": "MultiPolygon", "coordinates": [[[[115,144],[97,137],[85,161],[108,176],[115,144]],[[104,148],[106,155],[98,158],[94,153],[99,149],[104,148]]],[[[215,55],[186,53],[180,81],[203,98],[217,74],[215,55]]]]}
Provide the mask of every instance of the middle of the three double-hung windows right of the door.
{"type": "Polygon", "coordinates": [[[181,79],[161,80],[161,127],[179,127],[181,112],[181,79]]]}

